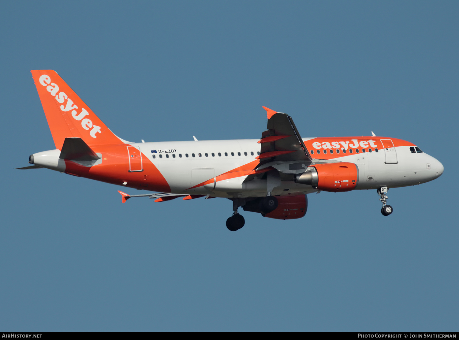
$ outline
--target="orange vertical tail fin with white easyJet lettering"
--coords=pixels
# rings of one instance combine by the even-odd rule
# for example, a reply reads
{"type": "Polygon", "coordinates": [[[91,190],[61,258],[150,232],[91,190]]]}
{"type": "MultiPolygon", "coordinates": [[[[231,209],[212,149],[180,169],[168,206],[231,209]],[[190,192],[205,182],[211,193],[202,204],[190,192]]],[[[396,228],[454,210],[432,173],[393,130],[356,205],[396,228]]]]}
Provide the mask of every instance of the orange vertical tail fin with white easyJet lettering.
{"type": "Polygon", "coordinates": [[[66,137],[78,137],[89,145],[122,144],[84,101],[53,70],[34,70],[32,77],[56,148],[66,137]]]}

